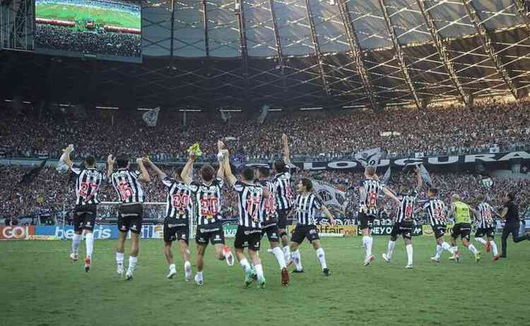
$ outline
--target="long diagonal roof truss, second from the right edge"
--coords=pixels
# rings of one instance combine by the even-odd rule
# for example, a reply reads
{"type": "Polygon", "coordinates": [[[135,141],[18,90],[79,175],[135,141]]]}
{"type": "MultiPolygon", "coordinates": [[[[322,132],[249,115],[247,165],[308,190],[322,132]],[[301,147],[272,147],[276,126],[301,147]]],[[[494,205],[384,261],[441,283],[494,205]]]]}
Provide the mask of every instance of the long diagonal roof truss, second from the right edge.
{"type": "Polygon", "coordinates": [[[440,60],[442,60],[445,70],[447,70],[447,73],[449,73],[449,77],[451,78],[451,81],[453,82],[454,87],[458,90],[459,95],[462,99],[462,102],[464,102],[466,107],[468,107],[470,104],[469,97],[466,96],[466,93],[464,92],[464,88],[462,87],[462,84],[460,83],[460,80],[458,79],[457,72],[454,70],[451,55],[449,54],[447,47],[445,47],[444,40],[442,39],[442,35],[440,35],[440,33],[438,32],[436,28],[435,20],[432,19],[432,16],[430,16],[429,11],[425,7],[425,2],[427,2],[427,0],[416,0],[416,1],[418,2],[418,6],[420,7],[421,13],[423,14],[423,18],[425,18],[425,23],[427,23],[427,27],[429,28],[429,32],[432,37],[432,40],[435,42],[438,55],[440,56],[440,60]]]}

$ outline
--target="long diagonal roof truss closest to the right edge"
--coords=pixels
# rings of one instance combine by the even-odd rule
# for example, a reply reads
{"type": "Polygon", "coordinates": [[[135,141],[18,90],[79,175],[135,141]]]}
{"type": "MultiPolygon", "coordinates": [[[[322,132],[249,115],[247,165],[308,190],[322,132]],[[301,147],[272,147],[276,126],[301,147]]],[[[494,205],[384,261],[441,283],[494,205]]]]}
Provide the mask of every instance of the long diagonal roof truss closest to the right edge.
{"type": "Polygon", "coordinates": [[[462,4],[464,4],[464,7],[466,7],[469,20],[471,20],[471,23],[473,23],[473,25],[475,25],[475,30],[478,34],[478,39],[481,41],[485,53],[488,54],[488,56],[490,57],[491,61],[493,62],[493,65],[495,66],[495,69],[497,70],[497,73],[499,73],[499,75],[502,77],[502,80],[504,80],[514,99],[519,102],[519,96],[517,95],[517,87],[515,87],[515,84],[513,83],[512,78],[510,77],[510,74],[508,73],[506,68],[502,66],[502,60],[495,51],[495,47],[493,47],[493,40],[491,40],[491,37],[488,34],[488,30],[485,28],[485,25],[482,23],[481,18],[478,16],[475,6],[473,6],[470,0],[461,1],[462,4]]]}

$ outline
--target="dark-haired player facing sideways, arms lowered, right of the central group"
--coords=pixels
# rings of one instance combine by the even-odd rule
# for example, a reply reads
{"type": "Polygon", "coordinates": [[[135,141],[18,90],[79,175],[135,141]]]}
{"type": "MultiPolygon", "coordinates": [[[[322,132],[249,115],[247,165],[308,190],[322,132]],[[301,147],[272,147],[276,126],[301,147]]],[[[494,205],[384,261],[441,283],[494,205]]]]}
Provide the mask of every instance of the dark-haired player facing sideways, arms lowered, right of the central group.
{"type": "Polygon", "coordinates": [[[317,251],[317,258],[322,267],[324,275],[329,276],[329,269],[326,264],[326,256],[324,255],[324,249],[320,246],[320,237],[317,231],[317,210],[322,210],[324,214],[329,217],[331,225],[335,225],[335,218],[329,212],[328,208],[322,204],[316,195],[312,193],[313,183],[310,179],[303,178],[298,182],[297,187],[298,195],[295,199],[295,210],[296,224],[295,231],[290,242],[290,250],[293,253],[293,260],[295,262],[294,273],[304,272],[302,267],[302,257],[298,247],[307,239],[313,245],[314,250],[317,251]]]}

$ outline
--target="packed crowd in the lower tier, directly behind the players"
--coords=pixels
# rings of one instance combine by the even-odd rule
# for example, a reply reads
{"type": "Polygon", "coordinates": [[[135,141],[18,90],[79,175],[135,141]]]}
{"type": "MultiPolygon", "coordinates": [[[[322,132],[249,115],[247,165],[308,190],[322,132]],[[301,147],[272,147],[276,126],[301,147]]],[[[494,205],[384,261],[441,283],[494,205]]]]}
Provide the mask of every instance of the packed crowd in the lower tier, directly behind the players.
{"type": "MultiPolygon", "coordinates": [[[[165,169],[168,174],[172,173],[171,168],[165,169]]],[[[24,174],[28,173],[27,168],[21,167],[0,167],[0,219],[9,218],[16,220],[23,219],[27,215],[42,215],[49,212],[61,211],[65,207],[66,210],[73,208],[75,200],[74,193],[74,178],[70,174],[59,174],[54,168],[44,168],[37,174],[33,182],[20,183],[24,174]],[[64,207],[63,207],[64,205],[64,207]]],[[[351,171],[298,171],[293,183],[302,177],[325,181],[331,184],[337,190],[346,193],[346,198],[351,202],[348,205],[346,216],[355,216],[355,207],[357,203],[357,192],[355,185],[363,177],[360,173],[352,173],[351,171]]],[[[517,192],[517,202],[523,208],[530,208],[530,179],[526,181],[517,181],[512,179],[493,179],[493,185],[488,188],[482,182],[484,176],[478,174],[458,172],[447,174],[431,174],[432,183],[437,188],[440,188],[440,198],[449,203],[449,198],[453,193],[459,193],[466,203],[477,205],[478,194],[488,195],[489,202],[494,207],[502,205],[502,196],[507,191],[517,192]]],[[[155,174],[151,173],[152,182],[146,185],[146,201],[164,203],[166,190],[161,182],[158,181],[155,174]]],[[[196,176],[195,176],[196,178],[196,176]]],[[[397,174],[392,176],[389,186],[395,191],[400,191],[402,185],[407,185],[410,188],[416,186],[416,176],[412,171],[408,174],[397,174]]],[[[294,186],[294,185],[293,185],[294,186]]],[[[423,192],[427,186],[423,187],[423,192]]],[[[424,196],[422,194],[421,196],[424,196]]],[[[102,201],[116,201],[117,195],[110,185],[102,188],[100,193],[100,200],[102,201]]],[[[223,215],[225,217],[232,217],[237,214],[237,196],[234,191],[231,191],[228,186],[225,186],[223,193],[223,215]]],[[[395,212],[395,204],[390,200],[384,198],[382,200],[384,210],[390,216],[395,212]]],[[[164,210],[161,205],[152,205],[148,210],[153,210],[153,214],[160,215],[158,218],[163,218],[164,210]]],[[[100,217],[115,218],[112,210],[100,210],[100,217]]],[[[153,218],[153,217],[151,217],[153,218]]]]}

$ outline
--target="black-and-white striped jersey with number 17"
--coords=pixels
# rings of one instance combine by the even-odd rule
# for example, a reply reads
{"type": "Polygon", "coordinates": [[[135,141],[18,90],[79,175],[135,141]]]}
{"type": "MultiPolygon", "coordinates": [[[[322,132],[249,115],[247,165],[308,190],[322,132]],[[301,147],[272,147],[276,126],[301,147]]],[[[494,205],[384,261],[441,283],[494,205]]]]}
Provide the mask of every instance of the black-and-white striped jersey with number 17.
{"type": "Polygon", "coordinates": [[[261,184],[235,181],[240,226],[258,229],[264,221],[265,198],[261,184]]]}

